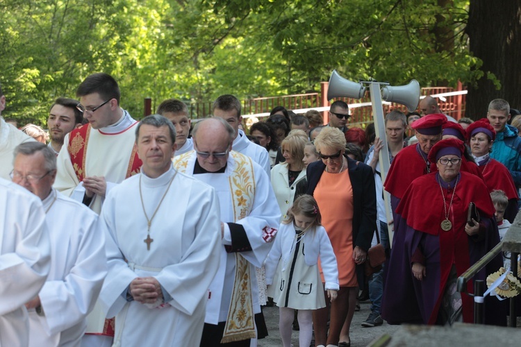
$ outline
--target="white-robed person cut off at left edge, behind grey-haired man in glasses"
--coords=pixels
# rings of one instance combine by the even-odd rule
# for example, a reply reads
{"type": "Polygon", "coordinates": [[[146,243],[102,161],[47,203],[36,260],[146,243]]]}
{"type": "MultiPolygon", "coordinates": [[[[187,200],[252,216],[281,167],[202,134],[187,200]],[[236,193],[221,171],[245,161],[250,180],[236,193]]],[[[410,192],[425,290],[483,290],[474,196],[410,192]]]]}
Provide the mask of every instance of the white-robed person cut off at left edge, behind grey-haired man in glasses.
{"type": "Polygon", "coordinates": [[[10,180],[9,174],[13,170],[13,151],[23,142],[35,141],[33,137],[24,134],[13,124],[3,120],[2,111],[6,108],[6,96],[3,95],[0,85],[0,178],[10,180]]]}

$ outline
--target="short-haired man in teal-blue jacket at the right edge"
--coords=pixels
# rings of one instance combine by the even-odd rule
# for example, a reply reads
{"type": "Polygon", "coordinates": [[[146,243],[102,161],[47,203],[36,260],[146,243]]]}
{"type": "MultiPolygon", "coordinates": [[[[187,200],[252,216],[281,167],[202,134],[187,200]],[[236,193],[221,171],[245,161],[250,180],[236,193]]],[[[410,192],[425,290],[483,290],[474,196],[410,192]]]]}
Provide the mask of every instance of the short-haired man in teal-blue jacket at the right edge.
{"type": "Polygon", "coordinates": [[[506,124],[510,119],[510,105],[503,99],[490,101],[487,119],[496,132],[490,158],[506,166],[515,185],[521,185],[521,138],[518,129],[506,124]]]}

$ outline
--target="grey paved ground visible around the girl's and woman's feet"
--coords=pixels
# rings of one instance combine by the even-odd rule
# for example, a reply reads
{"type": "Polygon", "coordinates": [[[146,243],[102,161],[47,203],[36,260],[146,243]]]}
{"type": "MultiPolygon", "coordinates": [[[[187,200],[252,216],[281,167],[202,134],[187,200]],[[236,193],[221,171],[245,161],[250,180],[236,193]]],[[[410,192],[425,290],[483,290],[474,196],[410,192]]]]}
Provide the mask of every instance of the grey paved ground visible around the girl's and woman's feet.
{"type": "MultiPolygon", "coordinates": [[[[264,318],[266,320],[267,330],[270,334],[265,339],[258,340],[259,347],[274,347],[282,346],[281,338],[279,335],[279,307],[264,307],[263,308],[264,318]]],[[[361,347],[367,346],[371,341],[381,337],[383,334],[392,335],[396,330],[399,329],[399,325],[383,325],[374,328],[363,328],[361,323],[367,319],[370,314],[370,303],[362,303],[361,310],[354,312],[353,323],[351,325],[351,346],[361,347]]],[[[294,331],[292,334],[293,347],[299,346],[299,332],[294,331]]],[[[308,347],[308,346],[300,346],[308,347]]]]}

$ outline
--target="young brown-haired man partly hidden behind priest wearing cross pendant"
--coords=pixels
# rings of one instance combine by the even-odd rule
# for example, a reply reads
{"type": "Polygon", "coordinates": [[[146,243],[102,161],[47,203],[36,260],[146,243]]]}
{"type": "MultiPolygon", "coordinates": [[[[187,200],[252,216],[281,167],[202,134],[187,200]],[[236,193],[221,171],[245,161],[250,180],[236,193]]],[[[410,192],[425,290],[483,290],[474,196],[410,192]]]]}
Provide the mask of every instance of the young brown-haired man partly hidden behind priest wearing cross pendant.
{"type": "Polygon", "coordinates": [[[157,113],[172,121],[176,128],[177,149],[175,155],[192,151],[194,144],[192,139],[188,138],[188,135],[190,135],[190,124],[192,124],[192,121],[188,118],[188,106],[181,100],[168,99],[159,105],[157,113]]]}

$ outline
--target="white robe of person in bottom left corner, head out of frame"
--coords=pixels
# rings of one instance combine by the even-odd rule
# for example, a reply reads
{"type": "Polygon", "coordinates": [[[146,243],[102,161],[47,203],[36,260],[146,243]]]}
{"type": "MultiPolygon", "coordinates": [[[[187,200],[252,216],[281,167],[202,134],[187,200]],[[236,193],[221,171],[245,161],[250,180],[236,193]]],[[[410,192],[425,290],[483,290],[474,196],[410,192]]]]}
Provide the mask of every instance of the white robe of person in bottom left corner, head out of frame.
{"type": "Polygon", "coordinates": [[[24,304],[38,294],[50,266],[42,202],[0,178],[0,346],[28,346],[24,304]]]}

